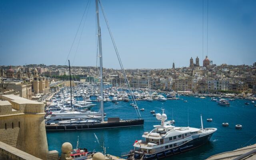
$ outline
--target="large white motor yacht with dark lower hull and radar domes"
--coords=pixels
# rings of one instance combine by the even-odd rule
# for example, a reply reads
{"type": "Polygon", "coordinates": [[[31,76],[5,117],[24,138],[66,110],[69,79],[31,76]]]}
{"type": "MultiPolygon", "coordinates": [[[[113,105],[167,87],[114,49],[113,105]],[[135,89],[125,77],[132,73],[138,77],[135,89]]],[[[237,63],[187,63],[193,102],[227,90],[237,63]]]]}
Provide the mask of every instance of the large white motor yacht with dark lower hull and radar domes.
{"type": "Polygon", "coordinates": [[[158,160],[193,148],[202,146],[208,142],[217,128],[204,128],[201,116],[202,128],[175,127],[167,120],[166,114],[156,114],[160,125],[155,125],[150,132],[144,132],[144,140],[134,142],[134,150],[122,156],[128,156],[128,160],[158,160]]]}

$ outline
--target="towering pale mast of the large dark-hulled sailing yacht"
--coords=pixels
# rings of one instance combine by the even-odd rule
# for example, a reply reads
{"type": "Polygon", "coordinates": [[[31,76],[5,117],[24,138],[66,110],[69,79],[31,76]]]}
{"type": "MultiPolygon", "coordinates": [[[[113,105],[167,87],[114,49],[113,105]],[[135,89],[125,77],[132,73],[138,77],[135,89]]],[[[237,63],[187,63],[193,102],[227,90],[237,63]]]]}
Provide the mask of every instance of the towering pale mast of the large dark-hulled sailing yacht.
{"type": "Polygon", "coordinates": [[[104,122],[104,106],[103,106],[103,68],[102,68],[102,48],[101,48],[101,33],[100,33],[100,17],[99,17],[99,7],[98,0],[96,0],[96,16],[97,16],[97,26],[98,26],[98,44],[99,44],[99,56],[100,56],[100,112],[101,121],[104,122]]]}

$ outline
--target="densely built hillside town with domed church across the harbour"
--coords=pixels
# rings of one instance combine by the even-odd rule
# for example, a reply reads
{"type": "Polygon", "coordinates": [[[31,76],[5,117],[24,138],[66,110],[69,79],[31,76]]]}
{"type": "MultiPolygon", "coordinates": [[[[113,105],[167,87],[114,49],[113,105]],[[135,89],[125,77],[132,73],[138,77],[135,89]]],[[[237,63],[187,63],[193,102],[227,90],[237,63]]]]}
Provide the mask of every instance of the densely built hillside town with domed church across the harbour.
{"type": "MultiPolygon", "coordinates": [[[[73,66],[71,72],[74,82],[99,82],[98,67],[73,66]]],[[[173,63],[172,68],[126,69],[125,72],[132,88],[150,86],[163,91],[256,93],[256,62],[253,65],[217,66],[206,56],[200,66],[199,58],[194,63],[191,57],[189,67],[175,68],[173,63]]],[[[23,98],[36,99],[38,95],[53,92],[56,82],[69,80],[68,75],[68,66],[0,66],[1,94],[20,94],[23,98]]],[[[104,68],[103,79],[113,86],[126,86],[122,70],[104,68]]]]}

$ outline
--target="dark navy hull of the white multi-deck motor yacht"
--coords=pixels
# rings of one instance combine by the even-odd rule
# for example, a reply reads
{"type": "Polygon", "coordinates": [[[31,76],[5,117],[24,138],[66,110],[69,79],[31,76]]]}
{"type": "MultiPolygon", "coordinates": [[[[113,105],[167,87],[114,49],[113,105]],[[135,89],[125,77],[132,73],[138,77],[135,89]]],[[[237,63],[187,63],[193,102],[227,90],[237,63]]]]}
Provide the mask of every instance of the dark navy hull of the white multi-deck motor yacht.
{"type": "MultiPolygon", "coordinates": [[[[202,146],[203,144],[208,142],[210,140],[212,134],[213,133],[208,134],[206,136],[195,138],[195,139],[190,140],[189,142],[186,142],[186,143],[184,143],[184,144],[182,144],[182,145],[180,145],[176,148],[160,151],[160,152],[157,152],[157,153],[154,153],[154,154],[144,154],[144,157],[143,157],[142,160],[158,160],[158,159],[161,159],[161,158],[174,156],[176,154],[180,154],[182,152],[192,150],[192,149],[197,148],[199,146],[202,146]]],[[[141,157],[141,155],[137,155],[137,156],[141,157]]],[[[134,157],[136,157],[136,156],[134,156],[134,157]]],[[[136,159],[136,158],[134,158],[134,159],[136,159]]]]}

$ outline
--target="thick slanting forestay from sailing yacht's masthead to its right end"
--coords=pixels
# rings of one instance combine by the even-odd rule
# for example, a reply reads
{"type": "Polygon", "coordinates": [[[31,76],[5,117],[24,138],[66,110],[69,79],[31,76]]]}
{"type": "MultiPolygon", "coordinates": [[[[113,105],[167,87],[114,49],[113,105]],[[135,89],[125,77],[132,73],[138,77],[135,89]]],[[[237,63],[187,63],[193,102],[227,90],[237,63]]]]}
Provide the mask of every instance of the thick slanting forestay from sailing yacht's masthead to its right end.
{"type": "MultiPolygon", "coordinates": [[[[104,16],[106,25],[107,25],[107,27],[108,27],[108,32],[109,32],[109,34],[110,34],[110,37],[111,37],[111,40],[112,40],[114,49],[115,49],[115,51],[116,51],[116,56],[117,56],[117,58],[118,58],[118,62],[119,62],[119,64],[120,64],[120,67],[121,67],[121,69],[122,69],[122,72],[123,72],[123,74],[124,74],[124,76],[125,76],[125,81],[127,82],[128,86],[129,86],[129,90],[131,90],[130,83],[129,83],[128,79],[127,79],[126,72],[125,72],[125,70],[124,70],[122,61],[121,61],[121,59],[120,59],[120,55],[119,55],[119,52],[118,52],[118,50],[117,50],[116,43],[115,43],[115,41],[114,41],[114,37],[113,37],[113,35],[112,35],[112,32],[111,32],[111,30],[110,30],[110,26],[109,26],[109,24],[108,24],[108,20],[107,20],[107,18],[106,18],[106,14],[105,14],[104,8],[103,8],[103,6],[102,6],[101,0],[99,0],[99,2],[100,2],[100,7],[101,7],[101,9],[102,9],[102,13],[103,13],[103,16],[104,16]]],[[[138,107],[138,105],[137,105],[137,103],[136,103],[136,101],[135,101],[133,92],[132,92],[132,102],[134,102],[134,104],[136,104],[136,106],[138,107]]],[[[137,110],[136,110],[136,113],[137,113],[138,117],[141,118],[140,111],[138,110],[138,108],[137,108],[137,110]]]]}

